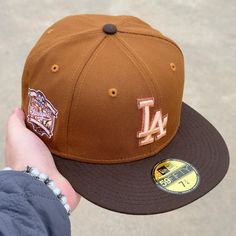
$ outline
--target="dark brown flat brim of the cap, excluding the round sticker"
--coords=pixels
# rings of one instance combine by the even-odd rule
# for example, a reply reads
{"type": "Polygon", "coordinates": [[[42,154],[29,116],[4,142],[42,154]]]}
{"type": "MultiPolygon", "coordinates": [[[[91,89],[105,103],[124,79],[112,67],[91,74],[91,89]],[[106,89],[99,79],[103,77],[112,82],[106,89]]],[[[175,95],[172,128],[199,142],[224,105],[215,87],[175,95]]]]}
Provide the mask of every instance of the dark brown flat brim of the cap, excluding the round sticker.
{"type": "Polygon", "coordinates": [[[135,215],[163,213],[193,202],[214,188],[229,166],[222,136],[185,103],[176,136],[152,157],[123,164],[89,164],[53,157],[58,170],[81,196],[103,208],[135,215]],[[173,194],[155,185],[153,167],[170,158],[186,161],[197,169],[200,182],[192,192],[173,194]]]}

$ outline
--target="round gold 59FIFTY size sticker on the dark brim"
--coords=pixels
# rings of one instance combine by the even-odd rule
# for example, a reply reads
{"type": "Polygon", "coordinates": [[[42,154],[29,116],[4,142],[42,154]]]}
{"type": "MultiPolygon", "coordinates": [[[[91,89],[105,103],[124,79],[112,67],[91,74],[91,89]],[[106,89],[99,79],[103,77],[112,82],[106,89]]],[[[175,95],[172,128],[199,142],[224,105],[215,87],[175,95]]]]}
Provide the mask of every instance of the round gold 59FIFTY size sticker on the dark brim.
{"type": "Polygon", "coordinates": [[[178,159],[166,159],[157,163],[153,167],[152,177],[157,187],[173,194],[192,192],[200,182],[196,168],[178,159]]]}

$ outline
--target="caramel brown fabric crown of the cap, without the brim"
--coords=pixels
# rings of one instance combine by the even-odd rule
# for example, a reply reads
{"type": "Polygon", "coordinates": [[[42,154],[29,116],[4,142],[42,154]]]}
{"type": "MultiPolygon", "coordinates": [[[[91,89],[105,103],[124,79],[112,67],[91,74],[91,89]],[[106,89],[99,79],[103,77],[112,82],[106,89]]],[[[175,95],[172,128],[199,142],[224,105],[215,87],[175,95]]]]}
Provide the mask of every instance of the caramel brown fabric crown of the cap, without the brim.
{"type": "MultiPolygon", "coordinates": [[[[159,152],[174,137],[183,86],[181,50],[147,23],[132,16],[69,16],[31,50],[22,108],[29,118],[38,99],[30,100],[30,89],[45,96],[40,114],[50,110],[54,119],[40,137],[52,153],[92,163],[128,162],[159,152]],[[105,24],[117,32],[105,33],[105,24]]],[[[39,133],[29,120],[28,128],[39,133]]]]}

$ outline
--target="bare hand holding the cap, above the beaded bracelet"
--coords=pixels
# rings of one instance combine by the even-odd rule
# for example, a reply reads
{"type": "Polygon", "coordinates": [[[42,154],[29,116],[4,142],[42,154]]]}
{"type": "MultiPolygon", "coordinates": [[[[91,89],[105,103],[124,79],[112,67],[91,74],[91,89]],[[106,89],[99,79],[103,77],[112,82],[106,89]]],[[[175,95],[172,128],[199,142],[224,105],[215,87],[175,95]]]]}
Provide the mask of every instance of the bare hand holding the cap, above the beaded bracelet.
{"type": "Polygon", "coordinates": [[[67,197],[71,211],[79,204],[80,196],[56,168],[53,157],[44,142],[25,125],[25,114],[15,108],[7,122],[5,138],[5,165],[24,170],[27,165],[44,172],[67,197]]]}

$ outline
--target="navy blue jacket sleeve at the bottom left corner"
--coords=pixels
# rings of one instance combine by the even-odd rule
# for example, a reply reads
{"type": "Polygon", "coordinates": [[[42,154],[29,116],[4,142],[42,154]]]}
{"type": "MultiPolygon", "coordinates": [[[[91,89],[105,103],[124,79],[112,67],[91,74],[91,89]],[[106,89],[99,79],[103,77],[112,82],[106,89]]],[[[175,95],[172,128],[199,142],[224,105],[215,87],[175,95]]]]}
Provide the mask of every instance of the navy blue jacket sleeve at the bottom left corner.
{"type": "Polygon", "coordinates": [[[0,171],[0,235],[69,236],[66,209],[43,182],[15,170],[0,171]]]}

